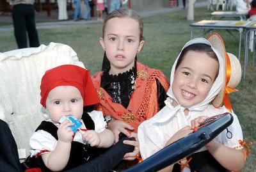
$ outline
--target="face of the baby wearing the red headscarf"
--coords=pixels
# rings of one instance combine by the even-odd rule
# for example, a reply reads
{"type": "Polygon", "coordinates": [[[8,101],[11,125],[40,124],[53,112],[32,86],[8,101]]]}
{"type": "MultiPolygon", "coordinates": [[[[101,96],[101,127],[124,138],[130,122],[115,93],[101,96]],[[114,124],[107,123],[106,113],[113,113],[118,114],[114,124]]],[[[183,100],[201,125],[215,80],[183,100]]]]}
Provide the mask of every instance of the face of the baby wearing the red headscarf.
{"type": "Polygon", "coordinates": [[[74,86],[58,86],[49,92],[46,110],[49,118],[55,122],[69,115],[80,119],[83,114],[83,97],[74,86]]]}

